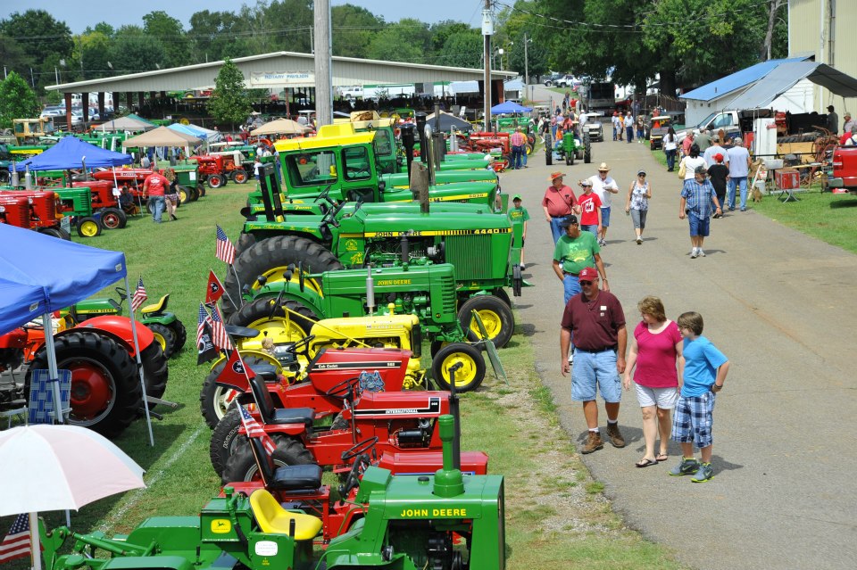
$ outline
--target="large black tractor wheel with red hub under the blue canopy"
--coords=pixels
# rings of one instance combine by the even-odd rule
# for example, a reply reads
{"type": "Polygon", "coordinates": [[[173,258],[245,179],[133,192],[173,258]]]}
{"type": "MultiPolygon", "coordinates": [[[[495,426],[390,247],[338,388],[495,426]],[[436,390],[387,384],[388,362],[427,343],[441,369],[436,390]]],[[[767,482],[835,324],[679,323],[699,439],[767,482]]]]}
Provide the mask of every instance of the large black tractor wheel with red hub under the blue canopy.
{"type": "MultiPolygon", "coordinates": [[[[71,370],[69,423],[108,438],[121,434],[143,406],[137,367],[129,352],[110,337],[88,331],[61,335],[54,347],[57,367],[71,370]]],[[[47,368],[44,347],[29,367],[37,368],[47,368]]]]}

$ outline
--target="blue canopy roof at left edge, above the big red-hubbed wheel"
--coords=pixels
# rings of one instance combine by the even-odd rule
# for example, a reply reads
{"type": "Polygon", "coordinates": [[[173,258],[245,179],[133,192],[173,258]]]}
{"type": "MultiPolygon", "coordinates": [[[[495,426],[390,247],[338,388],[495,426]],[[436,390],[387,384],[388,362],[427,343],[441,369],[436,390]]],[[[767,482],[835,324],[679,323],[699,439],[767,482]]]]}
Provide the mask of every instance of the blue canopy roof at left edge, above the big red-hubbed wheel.
{"type": "Polygon", "coordinates": [[[0,335],[125,277],[125,254],[0,224],[0,335]]]}

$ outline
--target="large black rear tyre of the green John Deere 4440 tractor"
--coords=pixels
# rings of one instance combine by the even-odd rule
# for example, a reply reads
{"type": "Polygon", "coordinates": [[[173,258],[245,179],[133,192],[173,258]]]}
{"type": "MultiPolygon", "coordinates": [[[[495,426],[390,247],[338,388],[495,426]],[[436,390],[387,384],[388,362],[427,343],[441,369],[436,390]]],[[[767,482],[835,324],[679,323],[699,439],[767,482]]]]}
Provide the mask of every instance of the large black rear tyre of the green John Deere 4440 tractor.
{"type": "MultiPolygon", "coordinates": [[[[234,300],[241,299],[241,291],[238,287],[238,279],[243,285],[250,285],[251,290],[258,289],[256,277],[264,276],[267,283],[275,283],[285,279],[284,273],[290,264],[297,266],[303,263],[304,271],[307,273],[322,273],[335,269],[341,269],[342,263],[337,257],[326,250],[320,244],[305,237],[295,235],[277,235],[256,242],[235,260],[226,276],[227,293],[234,300]]],[[[292,280],[297,281],[297,271],[292,275],[292,280]]],[[[305,286],[320,291],[320,285],[313,279],[307,279],[305,286]]],[[[235,312],[229,303],[223,306],[223,317],[229,318],[235,312]]]]}

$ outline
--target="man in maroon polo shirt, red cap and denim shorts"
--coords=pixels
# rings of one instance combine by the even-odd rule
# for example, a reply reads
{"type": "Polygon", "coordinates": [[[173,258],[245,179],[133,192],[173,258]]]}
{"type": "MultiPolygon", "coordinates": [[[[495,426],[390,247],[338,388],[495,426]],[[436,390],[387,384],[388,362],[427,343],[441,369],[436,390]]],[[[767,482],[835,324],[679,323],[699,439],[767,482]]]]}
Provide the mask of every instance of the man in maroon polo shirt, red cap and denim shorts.
{"type": "Polygon", "coordinates": [[[620,374],[625,372],[628,331],[625,312],[619,299],[598,288],[598,271],[583,268],[578,273],[582,293],[570,298],[562,313],[560,355],[562,376],[568,374],[569,347],[574,334],[574,370],[571,373],[571,400],[583,402],[587,420],[587,442],[581,453],[604,447],[598,430],[596,391],[601,391],[607,412],[607,435],[613,447],[625,447],[619,431],[619,406],[622,399],[620,374]]]}

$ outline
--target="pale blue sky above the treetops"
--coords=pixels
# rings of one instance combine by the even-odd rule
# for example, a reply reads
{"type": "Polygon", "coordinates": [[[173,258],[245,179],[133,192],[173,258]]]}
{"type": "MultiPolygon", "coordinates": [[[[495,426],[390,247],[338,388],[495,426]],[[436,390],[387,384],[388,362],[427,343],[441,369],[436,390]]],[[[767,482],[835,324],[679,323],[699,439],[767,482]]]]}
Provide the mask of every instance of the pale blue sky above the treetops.
{"type": "MultiPolygon", "coordinates": [[[[190,27],[190,17],[203,10],[211,12],[237,12],[241,4],[255,4],[254,0],[146,0],[145,2],[70,2],[69,0],[27,0],[17,4],[13,10],[7,6],[3,12],[26,12],[29,9],[46,10],[56,20],[64,21],[71,33],[79,34],[87,26],[106,21],[114,28],[125,24],[143,24],[143,16],[149,12],[162,10],[190,27]],[[114,10],[111,8],[114,7],[114,10]]],[[[330,0],[331,5],[354,4],[370,12],[384,16],[385,21],[399,21],[401,18],[416,18],[433,23],[442,20],[463,21],[473,27],[481,25],[483,0],[434,0],[433,2],[405,2],[404,0],[330,0]]],[[[0,18],[3,14],[0,14],[0,18]]]]}

